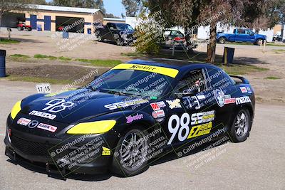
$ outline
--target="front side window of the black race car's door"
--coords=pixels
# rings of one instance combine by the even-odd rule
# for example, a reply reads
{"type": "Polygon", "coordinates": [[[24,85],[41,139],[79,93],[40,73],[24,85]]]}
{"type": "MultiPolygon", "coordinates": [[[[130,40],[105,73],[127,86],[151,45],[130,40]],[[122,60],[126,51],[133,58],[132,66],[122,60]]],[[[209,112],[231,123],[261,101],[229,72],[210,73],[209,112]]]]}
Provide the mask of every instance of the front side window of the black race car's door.
{"type": "Polygon", "coordinates": [[[190,73],[187,73],[185,77],[177,83],[175,93],[202,92],[206,89],[204,82],[204,70],[191,70],[190,73]]]}

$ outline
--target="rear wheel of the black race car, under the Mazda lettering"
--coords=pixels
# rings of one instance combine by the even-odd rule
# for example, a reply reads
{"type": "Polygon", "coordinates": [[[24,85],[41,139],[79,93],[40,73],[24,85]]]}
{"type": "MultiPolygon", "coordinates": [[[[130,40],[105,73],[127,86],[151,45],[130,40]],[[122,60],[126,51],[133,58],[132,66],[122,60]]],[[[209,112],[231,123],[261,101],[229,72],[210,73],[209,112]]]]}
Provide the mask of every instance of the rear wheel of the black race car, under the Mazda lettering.
{"type": "Polygon", "coordinates": [[[249,137],[249,131],[252,127],[251,120],[249,110],[241,109],[237,112],[228,131],[232,142],[244,142],[249,137]]]}

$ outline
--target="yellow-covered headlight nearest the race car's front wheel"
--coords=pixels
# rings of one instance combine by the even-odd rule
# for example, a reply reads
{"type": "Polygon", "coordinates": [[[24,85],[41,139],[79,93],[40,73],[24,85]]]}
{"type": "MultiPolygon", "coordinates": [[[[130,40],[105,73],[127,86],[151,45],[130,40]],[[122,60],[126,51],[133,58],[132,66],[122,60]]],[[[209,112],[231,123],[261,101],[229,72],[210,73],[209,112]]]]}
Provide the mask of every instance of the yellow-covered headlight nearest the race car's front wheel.
{"type": "Polygon", "coordinates": [[[115,124],[115,120],[82,122],[68,130],[67,134],[101,134],[110,131],[115,124]]]}

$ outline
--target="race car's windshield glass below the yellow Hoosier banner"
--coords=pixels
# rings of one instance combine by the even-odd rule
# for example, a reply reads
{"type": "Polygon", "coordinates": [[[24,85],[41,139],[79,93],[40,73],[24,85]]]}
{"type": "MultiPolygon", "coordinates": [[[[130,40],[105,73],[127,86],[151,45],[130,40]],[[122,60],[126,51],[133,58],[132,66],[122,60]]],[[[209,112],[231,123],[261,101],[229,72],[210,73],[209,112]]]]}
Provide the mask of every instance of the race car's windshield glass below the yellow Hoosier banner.
{"type": "Polygon", "coordinates": [[[93,90],[118,95],[160,97],[173,78],[141,70],[109,70],[93,80],[93,90]]]}

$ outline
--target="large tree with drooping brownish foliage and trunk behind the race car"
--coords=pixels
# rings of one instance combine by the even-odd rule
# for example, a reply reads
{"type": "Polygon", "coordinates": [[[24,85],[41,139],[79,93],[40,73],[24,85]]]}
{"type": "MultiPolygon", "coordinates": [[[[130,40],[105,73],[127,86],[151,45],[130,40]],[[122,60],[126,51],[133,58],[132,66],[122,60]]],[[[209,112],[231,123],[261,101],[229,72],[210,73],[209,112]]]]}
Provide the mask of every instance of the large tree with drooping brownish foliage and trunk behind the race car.
{"type": "Polygon", "coordinates": [[[284,19],[284,0],[149,0],[150,12],[162,10],[168,26],[185,28],[187,46],[190,33],[197,26],[210,26],[207,62],[214,63],[217,23],[225,26],[270,28],[284,19]],[[262,21],[262,23],[261,23],[262,21]]]}

